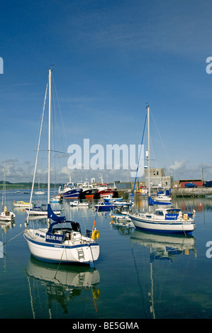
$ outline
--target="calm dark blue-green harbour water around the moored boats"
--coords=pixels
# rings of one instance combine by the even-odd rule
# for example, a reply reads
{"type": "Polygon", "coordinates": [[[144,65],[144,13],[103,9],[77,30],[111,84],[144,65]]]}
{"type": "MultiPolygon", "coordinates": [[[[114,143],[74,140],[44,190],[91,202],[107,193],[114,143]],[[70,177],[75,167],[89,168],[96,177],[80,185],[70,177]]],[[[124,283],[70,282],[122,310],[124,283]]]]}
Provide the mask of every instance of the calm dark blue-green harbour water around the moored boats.
{"type": "MultiPolygon", "coordinates": [[[[95,270],[58,269],[33,259],[23,238],[26,213],[12,205],[29,201],[29,195],[8,191],[6,200],[16,220],[13,227],[1,226],[0,241],[6,242],[0,258],[1,319],[212,318],[212,258],[206,256],[212,198],[173,200],[183,210],[196,210],[196,230],[187,237],[116,227],[108,213],[72,208],[67,201],[67,218],[80,222],[82,230],[96,219],[101,252],[95,270]]],[[[146,201],[138,198],[137,204],[142,208],[146,201]]]]}

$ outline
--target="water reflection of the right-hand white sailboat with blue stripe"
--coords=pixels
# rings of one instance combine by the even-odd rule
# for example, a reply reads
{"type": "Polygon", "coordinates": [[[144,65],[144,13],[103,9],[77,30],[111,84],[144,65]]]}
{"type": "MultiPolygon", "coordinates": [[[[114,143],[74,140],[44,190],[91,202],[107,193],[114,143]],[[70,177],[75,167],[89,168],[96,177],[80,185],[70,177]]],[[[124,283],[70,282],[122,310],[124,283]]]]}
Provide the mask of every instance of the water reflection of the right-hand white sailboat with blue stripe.
{"type": "MultiPolygon", "coordinates": [[[[143,297],[145,300],[145,308],[149,309],[150,316],[155,319],[157,317],[157,313],[160,317],[160,310],[158,310],[158,305],[161,305],[161,301],[163,300],[165,303],[167,297],[170,300],[173,298],[172,293],[171,295],[167,296],[169,292],[167,291],[166,285],[164,283],[164,281],[167,281],[167,276],[165,277],[165,269],[161,263],[166,261],[176,261],[180,254],[187,256],[191,251],[194,252],[194,256],[196,257],[196,239],[189,235],[157,235],[150,232],[134,230],[133,234],[130,236],[130,242],[136,243],[145,249],[150,249],[149,261],[146,261],[146,264],[148,263],[149,268],[147,269],[147,266],[145,266],[145,260],[143,259],[143,264],[141,268],[138,269],[136,256],[135,266],[138,270],[138,276],[142,276],[143,278],[139,284],[141,290],[143,290],[142,295],[144,295],[143,297]],[[158,264],[160,263],[160,265],[155,266],[153,265],[154,262],[157,262],[158,264]],[[147,274],[146,282],[145,274],[147,274]],[[165,288],[164,294],[162,294],[162,288],[165,288]],[[157,305],[157,307],[155,307],[155,305],[157,305]]],[[[139,257],[140,255],[141,253],[139,254],[139,257]]],[[[163,316],[166,317],[165,314],[163,314],[163,316]]],[[[147,317],[149,317],[148,314],[147,317]]]]}

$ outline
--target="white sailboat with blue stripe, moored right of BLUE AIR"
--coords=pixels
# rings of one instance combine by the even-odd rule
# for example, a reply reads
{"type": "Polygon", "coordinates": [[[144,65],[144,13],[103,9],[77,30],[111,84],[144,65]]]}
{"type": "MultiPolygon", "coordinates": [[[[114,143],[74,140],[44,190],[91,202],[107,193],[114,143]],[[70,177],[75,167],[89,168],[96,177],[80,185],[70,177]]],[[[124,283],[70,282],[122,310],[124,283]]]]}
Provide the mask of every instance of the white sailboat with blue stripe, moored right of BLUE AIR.
{"type": "MultiPolygon", "coordinates": [[[[148,121],[148,195],[150,198],[150,108],[147,106],[147,121],[148,121]]],[[[150,202],[150,201],[149,201],[150,202]]],[[[146,213],[130,213],[129,216],[135,225],[135,228],[153,232],[174,232],[174,233],[190,233],[195,229],[193,213],[182,213],[182,210],[173,208],[173,206],[162,207],[155,209],[155,212],[146,213]]]]}

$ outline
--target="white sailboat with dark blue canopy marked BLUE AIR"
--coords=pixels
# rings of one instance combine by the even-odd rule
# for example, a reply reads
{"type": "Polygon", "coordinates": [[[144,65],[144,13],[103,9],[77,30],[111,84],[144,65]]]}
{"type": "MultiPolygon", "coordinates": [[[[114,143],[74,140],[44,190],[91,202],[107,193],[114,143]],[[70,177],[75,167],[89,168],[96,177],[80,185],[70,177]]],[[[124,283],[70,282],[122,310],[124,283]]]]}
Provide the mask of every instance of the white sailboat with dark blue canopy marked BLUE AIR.
{"type": "MultiPolygon", "coordinates": [[[[82,235],[79,223],[67,221],[52,212],[50,207],[50,118],[51,118],[51,73],[49,70],[49,136],[48,136],[48,228],[30,229],[28,220],[24,238],[28,242],[31,254],[42,261],[55,263],[80,263],[94,266],[94,261],[99,258],[99,232],[94,229],[82,235]],[[54,221],[54,222],[51,222],[54,221]]],[[[38,145],[39,147],[39,145],[38,145]]],[[[35,166],[36,166],[35,162],[35,166]]],[[[34,172],[35,178],[35,172],[34,172]]],[[[33,179],[34,180],[34,179],[33,179]]],[[[32,188],[33,192],[33,188],[32,188]]]]}

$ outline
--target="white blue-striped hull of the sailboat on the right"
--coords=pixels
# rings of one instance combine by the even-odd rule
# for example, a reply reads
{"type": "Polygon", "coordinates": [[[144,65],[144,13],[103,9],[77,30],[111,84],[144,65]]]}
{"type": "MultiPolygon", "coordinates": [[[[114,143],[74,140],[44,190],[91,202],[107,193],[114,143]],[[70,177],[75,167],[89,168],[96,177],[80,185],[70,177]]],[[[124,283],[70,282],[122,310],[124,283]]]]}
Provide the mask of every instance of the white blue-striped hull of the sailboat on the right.
{"type": "Polygon", "coordinates": [[[148,220],[141,215],[129,215],[135,228],[152,232],[190,233],[195,229],[194,220],[148,220]]]}

